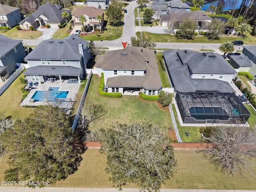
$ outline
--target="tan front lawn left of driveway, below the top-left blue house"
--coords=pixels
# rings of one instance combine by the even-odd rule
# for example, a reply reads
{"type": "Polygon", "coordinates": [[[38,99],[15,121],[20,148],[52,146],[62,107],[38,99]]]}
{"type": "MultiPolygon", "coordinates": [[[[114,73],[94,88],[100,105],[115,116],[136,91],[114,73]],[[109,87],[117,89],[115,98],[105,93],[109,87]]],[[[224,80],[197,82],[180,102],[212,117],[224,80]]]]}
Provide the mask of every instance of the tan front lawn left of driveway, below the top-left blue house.
{"type": "Polygon", "coordinates": [[[14,27],[10,30],[0,30],[0,34],[3,34],[12,39],[35,39],[40,37],[40,35],[43,33],[40,31],[17,30],[14,27]]]}

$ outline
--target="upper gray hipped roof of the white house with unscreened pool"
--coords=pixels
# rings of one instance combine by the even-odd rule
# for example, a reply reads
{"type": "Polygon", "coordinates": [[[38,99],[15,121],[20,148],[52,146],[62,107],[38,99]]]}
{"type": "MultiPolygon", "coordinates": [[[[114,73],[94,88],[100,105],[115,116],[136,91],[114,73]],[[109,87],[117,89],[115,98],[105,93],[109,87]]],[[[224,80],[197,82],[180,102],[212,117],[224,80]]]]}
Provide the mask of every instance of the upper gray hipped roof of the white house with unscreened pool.
{"type": "Polygon", "coordinates": [[[36,46],[24,60],[80,60],[82,58],[78,49],[80,42],[86,49],[88,41],[74,34],[64,39],[48,39],[36,46]]]}

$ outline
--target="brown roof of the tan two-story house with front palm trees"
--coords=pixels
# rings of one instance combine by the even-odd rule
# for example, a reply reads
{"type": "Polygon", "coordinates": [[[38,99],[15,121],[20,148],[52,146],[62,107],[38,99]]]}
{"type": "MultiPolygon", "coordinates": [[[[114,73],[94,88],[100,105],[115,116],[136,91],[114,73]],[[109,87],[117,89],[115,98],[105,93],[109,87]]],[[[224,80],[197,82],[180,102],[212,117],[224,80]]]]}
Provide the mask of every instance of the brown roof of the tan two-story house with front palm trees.
{"type": "Polygon", "coordinates": [[[80,8],[77,8],[76,10],[74,10],[72,12],[71,15],[74,15],[74,16],[80,16],[80,15],[88,15],[89,17],[97,17],[97,15],[100,15],[102,16],[102,14],[104,13],[104,10],[102,9],[98,9],[96,7],[80,7],[80,8]]]}

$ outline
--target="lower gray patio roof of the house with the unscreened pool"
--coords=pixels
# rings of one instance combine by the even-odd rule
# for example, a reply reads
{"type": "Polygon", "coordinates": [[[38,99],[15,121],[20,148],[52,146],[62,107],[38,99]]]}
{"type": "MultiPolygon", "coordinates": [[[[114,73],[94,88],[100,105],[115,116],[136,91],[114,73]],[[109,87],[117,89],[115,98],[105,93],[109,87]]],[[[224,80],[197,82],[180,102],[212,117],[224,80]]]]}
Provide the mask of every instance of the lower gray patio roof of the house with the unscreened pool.
{"type": "Polygon", "coordinates": [[[35,66],[30,67],[24,75],[64,75],[64,76],[80,76],[82,68],[72,66],[35,66]]]}

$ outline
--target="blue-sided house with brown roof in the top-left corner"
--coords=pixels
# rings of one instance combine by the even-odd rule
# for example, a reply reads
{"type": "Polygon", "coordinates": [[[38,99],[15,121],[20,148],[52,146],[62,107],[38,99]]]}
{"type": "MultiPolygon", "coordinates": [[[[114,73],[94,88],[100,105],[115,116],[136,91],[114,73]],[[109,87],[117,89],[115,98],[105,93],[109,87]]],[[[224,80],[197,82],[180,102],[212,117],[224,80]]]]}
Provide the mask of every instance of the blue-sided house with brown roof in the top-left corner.
{"type": "Polygon", "coordinates": [[[21,21],[20,8],[0,4],[0,26],[13,28],[21,21]]]}

